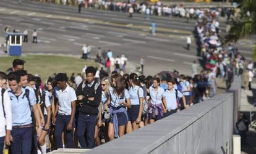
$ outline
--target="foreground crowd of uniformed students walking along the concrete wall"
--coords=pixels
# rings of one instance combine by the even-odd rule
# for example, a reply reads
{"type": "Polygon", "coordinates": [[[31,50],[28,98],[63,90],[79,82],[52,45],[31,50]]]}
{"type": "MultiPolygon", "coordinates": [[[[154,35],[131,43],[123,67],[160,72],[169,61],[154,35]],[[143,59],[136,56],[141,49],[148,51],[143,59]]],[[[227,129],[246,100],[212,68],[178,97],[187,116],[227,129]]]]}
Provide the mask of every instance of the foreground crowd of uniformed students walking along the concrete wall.
{"type": "Polygon", "coordinates": [[[0,72],[0,152],[6,144],[10,153],[46,153],[46,135],[51,150],[93,148],[193,104],[194,90],[177,71],[146,78],[85,66],[80,80],[58,73],[43,85],[24,63],[0,72]]]}

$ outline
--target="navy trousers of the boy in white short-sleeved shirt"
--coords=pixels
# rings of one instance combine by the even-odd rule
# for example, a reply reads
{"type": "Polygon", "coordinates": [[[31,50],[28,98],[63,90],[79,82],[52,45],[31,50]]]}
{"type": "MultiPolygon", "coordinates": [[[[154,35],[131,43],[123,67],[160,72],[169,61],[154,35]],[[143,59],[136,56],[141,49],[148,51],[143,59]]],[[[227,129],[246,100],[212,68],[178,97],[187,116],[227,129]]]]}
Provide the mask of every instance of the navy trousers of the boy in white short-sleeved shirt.
{"type": "MultiPolygon", "coordinates": [[[[54,129],[54,137],[56,140],[57,148],[63,148],[61,134],[63,131],[67,129],[67,124],[69,124],[70,115],[57,115],[56,117],[56,124],[54,129]]],[[[73,122],[73,128],[74,128],[74,122],[73,122]]],[[[65,137],[65,148],[72,148],[73,147],[73,129],[68,131],[65,131],[66,134],[65,137]]]]}

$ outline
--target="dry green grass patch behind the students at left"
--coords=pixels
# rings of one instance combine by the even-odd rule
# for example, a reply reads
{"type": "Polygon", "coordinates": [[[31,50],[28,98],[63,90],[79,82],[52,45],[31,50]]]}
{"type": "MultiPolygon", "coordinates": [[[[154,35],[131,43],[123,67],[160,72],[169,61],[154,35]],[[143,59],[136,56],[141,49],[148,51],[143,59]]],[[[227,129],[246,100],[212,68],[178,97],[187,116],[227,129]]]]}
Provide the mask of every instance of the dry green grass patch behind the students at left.
{"type": "Polygon", "coordinates": [[[94,60],[84,60],[76,57],[66,57],[58,55],[24,55],[22,57],[0,57],[0,71],[6,72],[12,67],[14,59],[25,60],[25,70],[33,75],[39,75],[43,82],[48,79],[53,73],[67,73],[71,76],[72,73],[82,73],[84,65],[98,67],[98,63],[94,60]]]}

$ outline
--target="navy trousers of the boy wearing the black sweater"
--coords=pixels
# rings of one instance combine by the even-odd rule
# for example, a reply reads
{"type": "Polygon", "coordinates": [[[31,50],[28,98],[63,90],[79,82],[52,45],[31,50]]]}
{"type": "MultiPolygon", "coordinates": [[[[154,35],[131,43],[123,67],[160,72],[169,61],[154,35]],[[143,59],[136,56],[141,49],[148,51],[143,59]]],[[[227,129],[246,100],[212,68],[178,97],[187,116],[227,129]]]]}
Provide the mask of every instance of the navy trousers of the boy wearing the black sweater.
{"type": "Polygon", "coordinates": [[[94,134],[95,125],[97,121],[97,115],[87,115],[79,113],[77,121],[77,137],[82,148],[93,148],[94,147],[94,134]],[[86,135],[85,135],[86,131],[86,135]],[[86,140],[85,140],[86,136],[86,140]]]}

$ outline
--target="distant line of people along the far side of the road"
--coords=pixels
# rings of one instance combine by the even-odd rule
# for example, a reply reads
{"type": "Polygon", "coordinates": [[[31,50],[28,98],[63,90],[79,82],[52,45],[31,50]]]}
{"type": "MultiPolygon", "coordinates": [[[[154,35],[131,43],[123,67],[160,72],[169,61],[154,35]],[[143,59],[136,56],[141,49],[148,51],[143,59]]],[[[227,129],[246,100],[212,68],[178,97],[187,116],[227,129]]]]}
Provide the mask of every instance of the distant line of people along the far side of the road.
{"type": "MultiPolygon", "coordinates": [[[[132,14],[144,14],[149,19],[149,16],[175,16],[175,17],[186,17],[187,21],[189,18],[201,18],[206,12],[210,12],[214,18],[218,18],[221,15],[225,16],[227,20],[234,15],[235,11],[233,8],[197,8],[187,7],[184,4],[172,4],[166,5],[162,1],[155,3],[150,2],[139,2],[139,1],[108,1],[108,0],[38,0],[41,2],[54,2],[56,4],[63,4],[69,6],[79,6],[79,13],[82,7],[85,9],[101,9],[111,10],[118,12],[128,12],[132,14]]],[[[130,16],[132,17],[132,16],[130,16]]]]}

